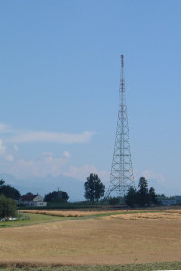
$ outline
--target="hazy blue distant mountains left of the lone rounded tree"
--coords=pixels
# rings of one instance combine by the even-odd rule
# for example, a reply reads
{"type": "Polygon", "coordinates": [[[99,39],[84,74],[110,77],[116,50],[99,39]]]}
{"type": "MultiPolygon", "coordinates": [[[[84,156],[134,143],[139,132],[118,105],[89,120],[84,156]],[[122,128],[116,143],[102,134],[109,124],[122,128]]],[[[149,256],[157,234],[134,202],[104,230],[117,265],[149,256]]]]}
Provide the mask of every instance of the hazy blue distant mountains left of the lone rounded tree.
{"type": "Polygon", "coordinates": [[[22,195],[32,192],[34,194],[39,193],[44,197],[45,194],[59,189],[68,193],[69,201],[85,200],[84,182],[64,175],[54,177],[49,174],[43,178],[29,177],[18,179],[9,174],[0,174],[0,179],[3,179],[5,184],[14,186],[22,195]]]}

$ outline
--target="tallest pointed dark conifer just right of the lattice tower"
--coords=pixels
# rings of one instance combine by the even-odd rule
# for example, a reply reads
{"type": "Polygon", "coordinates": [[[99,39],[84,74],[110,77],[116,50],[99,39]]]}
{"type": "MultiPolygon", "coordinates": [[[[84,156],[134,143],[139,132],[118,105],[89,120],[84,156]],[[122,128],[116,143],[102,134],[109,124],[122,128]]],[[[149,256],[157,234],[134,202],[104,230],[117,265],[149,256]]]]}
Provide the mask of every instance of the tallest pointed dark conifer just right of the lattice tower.
{"type": "Polygon", "coordinates": [[[141,177],[138,184],[138,205],[149,205],[148,183],[145,177],[141,177]]]}

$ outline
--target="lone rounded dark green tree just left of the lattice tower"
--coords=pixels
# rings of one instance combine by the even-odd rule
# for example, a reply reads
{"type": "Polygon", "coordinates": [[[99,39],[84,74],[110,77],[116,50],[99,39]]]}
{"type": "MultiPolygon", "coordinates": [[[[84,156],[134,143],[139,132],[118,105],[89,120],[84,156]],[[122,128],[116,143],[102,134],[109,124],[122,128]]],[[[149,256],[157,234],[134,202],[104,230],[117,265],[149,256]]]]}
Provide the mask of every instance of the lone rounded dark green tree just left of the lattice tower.
{"type": "Polygon", "coordinates": [[[105,185],[101,182],[98,175],[91,173],[84,184],[85,198],[91,202],[98,201],[104,196],[105,185]]]}

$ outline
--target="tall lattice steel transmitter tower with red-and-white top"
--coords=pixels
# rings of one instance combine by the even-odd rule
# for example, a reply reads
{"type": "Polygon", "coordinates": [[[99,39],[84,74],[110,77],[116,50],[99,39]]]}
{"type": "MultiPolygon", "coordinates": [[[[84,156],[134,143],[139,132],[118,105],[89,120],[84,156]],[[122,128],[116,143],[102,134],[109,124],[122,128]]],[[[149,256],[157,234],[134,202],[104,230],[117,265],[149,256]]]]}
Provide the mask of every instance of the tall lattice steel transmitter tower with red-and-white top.
{"type": "Polygon", "coordinates": [[[121,55],[121,79],[119,89],[119,112],[116,129],[114,154],[110,173],[110,186],[106,193],[122,197],[129,186],[135,186],[129,145],[129,125],[125,99],[124,56],[121,55]]]}

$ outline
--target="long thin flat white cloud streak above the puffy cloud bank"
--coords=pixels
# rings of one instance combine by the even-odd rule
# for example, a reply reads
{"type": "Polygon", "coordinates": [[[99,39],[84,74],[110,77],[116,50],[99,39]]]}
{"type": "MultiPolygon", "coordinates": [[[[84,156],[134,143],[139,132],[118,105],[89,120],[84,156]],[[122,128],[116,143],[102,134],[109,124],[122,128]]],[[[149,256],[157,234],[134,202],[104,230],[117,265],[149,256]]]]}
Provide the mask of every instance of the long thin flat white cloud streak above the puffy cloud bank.
{"type": "Polygon", "coordinates": [[[30,131],[30,132],[18,132],[17,135],[7,138],[7,142],[11,143],[23,143],[23,142],[56,142],[56,143],[85,143],[90,141],[94,132],[85,131],[80,134],[73,133],[56,133],[45,131],[30,131]]]}

